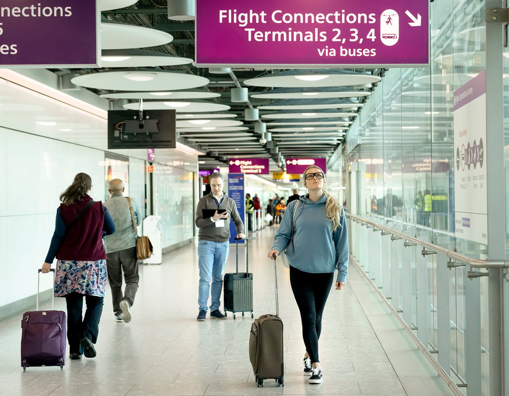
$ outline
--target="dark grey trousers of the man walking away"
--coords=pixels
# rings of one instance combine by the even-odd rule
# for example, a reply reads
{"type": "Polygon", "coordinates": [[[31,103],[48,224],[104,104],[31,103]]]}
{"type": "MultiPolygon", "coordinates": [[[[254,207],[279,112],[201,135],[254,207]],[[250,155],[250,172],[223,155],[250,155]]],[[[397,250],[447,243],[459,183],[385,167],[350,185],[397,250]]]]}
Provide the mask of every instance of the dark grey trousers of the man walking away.
{"type": "Polygon", "coordinates": [[[134,304],[134,297],[138,290],[138,259],[136,247],[107,253],[106,266],[108,269],[108,282],[113,297],[113,311],[115,316],[122,313],[120,303],[126,300],[130,306],[134,304]],[[126,282],[125,292],[122,293],[122,270],[126,282]]]}

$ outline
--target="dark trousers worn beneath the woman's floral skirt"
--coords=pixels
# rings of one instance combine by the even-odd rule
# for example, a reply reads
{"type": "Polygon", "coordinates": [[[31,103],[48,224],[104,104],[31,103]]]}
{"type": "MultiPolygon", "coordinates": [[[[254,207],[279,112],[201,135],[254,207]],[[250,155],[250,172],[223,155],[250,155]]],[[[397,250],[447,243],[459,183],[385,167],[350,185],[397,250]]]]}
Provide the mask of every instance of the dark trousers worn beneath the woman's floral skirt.
{"type": "Polygon", "coordinates": [[[104,297],[89,296],[79,293],[70,293],[65,296],[67,303],[67,341],[69,341],[69,353],[83,354],[83,348],[79,340],[89,338],[94,344],[97,343],[99,334],[99,321],[101,320],[104,297]],[[85,317],[83,314],[83,297],[87,304],[85,317]]]}

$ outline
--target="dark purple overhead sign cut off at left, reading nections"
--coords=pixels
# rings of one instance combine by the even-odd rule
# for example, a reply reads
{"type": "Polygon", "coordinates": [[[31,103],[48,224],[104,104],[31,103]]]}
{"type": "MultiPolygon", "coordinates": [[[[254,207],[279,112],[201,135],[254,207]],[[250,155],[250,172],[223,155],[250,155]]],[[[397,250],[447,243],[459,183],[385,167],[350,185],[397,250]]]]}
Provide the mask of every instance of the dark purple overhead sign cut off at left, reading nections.
{"type": "Polygon", "coordinates": [[[97,0],[15,0],[0,7],[0,67],[100,65],[97,0]]]}

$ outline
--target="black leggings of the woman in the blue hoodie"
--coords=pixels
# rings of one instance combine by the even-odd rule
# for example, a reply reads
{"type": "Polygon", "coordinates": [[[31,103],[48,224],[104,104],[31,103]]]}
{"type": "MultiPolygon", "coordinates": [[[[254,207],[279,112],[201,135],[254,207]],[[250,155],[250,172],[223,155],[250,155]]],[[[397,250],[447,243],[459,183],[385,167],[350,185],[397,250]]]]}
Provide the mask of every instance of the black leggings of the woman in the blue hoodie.
{"type": "Polygon", "coordinates": [[[290,266],[290,284],[300,310],[302,337],[312,363],[319,363],[318,339],[322,332],[322,314],[329,296],[334,272],[309,273],[290,266]]]}

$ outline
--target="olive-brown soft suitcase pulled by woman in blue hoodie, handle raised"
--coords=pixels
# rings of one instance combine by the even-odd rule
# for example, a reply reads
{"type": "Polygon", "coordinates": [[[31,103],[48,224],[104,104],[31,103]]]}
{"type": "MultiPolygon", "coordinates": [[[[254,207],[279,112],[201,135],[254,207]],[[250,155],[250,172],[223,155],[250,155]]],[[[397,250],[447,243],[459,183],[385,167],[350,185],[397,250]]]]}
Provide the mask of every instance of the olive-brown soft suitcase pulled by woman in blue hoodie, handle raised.
{"type": "Polygon", "coordinates": [[[255,319],[249,334],[249,359],[253,367],[254,381],[263,386],[266,379],[275,379],[277,386],[285,386],[285,363],[283,361],[283,322],[279,318],[276,259],[274,258],[276,286],[276,315],[262,315],[255,319]]]}

